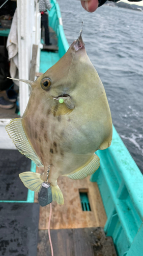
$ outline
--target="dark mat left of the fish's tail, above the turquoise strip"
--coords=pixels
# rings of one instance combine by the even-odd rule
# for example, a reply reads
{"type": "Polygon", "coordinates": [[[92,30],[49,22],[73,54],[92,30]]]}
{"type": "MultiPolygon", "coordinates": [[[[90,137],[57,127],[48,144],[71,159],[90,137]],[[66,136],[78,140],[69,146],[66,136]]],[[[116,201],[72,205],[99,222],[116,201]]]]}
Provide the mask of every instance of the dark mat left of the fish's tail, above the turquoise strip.
{"type": "Polygon", "coordinates": [[[31,160],[17,150],[0,150],[0,200],[27,199],[27,188],[18,174],[30,172],[31,160]]]}

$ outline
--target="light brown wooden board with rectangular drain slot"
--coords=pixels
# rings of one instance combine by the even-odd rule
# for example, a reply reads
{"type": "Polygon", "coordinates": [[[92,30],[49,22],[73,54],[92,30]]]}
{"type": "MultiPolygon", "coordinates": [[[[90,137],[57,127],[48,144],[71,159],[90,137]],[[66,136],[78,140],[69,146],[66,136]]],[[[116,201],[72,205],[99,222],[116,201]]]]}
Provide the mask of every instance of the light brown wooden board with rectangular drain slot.
{"type": "MultiPolygon", "coordinates": [[[[37,168],[38,173],[43,172],[37,168]]],[[[90,177],[83,180],[71,180],[68,177],[58,179],[64,195],[64,205],[52,202],[51,229],[61,228],[84,228],[103,227],[106,223],[106,214],[102,204],[101,196],[96,182],[90,182],[90,177]],[[91,211],[82,211],[79,189],[88,189],[91,211]]],[[[35,202],[38,202],[38,195],[35,193],[35,202]]],[[[39,229],[47,229],[49,218],[49,205],[40,207],[39,229]]]]}

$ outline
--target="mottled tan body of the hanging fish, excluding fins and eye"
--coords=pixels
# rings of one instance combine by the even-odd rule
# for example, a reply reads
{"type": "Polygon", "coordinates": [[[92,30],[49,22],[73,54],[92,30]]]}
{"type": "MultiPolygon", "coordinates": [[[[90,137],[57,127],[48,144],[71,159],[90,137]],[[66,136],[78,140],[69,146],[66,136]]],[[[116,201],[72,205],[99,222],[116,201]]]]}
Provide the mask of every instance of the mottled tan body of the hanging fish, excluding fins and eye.
{"type": "Polygon", "coordinates": [[[74,41],[67,53],[32,83],[22,125],[45,167],[42,180],[51,165],[49,182],[53,186],[60,175],[74,172],[89,162],[94,152],[110,145],[112,120],[106,93],[82,40],[78,46],[74,41]],[[48,90],[40,86],[44,77],[51,80],[48,90]],[[60,103],[53,98],[63,94],[70,96],[74,109],[68,115],[54,115],[52,109],[60,103]]]}

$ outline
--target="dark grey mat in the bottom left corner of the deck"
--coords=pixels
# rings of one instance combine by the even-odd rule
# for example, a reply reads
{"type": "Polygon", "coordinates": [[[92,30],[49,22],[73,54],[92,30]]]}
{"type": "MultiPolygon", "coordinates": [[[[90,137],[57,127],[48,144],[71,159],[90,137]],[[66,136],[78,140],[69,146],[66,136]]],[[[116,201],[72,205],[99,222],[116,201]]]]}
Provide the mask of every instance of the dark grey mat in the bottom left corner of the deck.
{"type": "Polygon", "coordinates": [[[0,203],[0,255],[36,256],[39,204],[0,203]]]}

